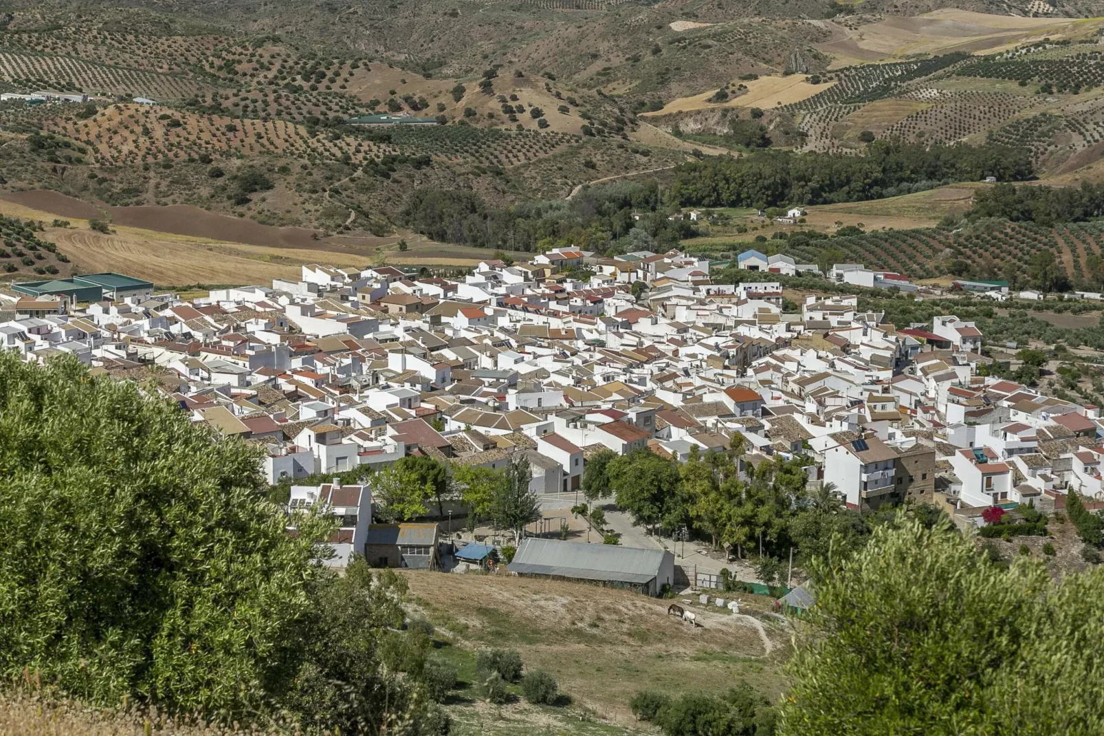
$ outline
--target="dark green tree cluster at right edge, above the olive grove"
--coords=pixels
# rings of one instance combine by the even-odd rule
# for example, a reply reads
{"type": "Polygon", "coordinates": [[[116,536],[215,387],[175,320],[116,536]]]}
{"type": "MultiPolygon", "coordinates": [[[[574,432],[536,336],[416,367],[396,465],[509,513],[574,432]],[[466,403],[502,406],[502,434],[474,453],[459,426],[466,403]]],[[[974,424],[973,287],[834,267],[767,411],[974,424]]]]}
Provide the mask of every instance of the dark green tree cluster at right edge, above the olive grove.
{"type": "Polygon", "coordinates": [[[1012,222],[1081,222],[1104,214],[1104,183],[1081,187],[1017,187],[998,183],[974,192],[969,214],[1012,222]]]}

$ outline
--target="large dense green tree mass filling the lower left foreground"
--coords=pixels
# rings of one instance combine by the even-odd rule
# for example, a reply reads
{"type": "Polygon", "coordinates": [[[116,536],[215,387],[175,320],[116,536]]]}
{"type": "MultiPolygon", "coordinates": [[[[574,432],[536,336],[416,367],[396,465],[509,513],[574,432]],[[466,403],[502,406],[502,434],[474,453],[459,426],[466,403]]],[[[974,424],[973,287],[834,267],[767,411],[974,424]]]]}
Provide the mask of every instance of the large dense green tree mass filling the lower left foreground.
{"type": "Polygon", "coordinates": [[[0,676],[310,733],[437,733],[404,581],[362,560],[338,576],[316,561],[328,517],[293,523],[248,445],[75,359],[0,354],[0,676]]]}

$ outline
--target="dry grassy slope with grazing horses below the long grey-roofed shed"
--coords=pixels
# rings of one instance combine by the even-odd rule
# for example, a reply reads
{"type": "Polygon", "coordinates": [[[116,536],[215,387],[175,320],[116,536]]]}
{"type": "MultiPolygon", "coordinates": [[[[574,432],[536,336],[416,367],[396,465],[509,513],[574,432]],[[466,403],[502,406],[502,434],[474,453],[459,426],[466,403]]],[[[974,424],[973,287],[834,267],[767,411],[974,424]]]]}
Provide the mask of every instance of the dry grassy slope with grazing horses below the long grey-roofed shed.
{"type": "MultiPolygon", "coordinates": [[[[405,577],[415,606],[452,633],[455,651],[517,649],[527,667],[554,674],[575,707],[602,721],[633,725],[628,701],[645,688],[716,693],[747,680],[775,697],[784,687],[788,638],[769,618],[702,608],[694,610],[703,627],[691,629],[667,616],[669,601],[629,591],[506,576],[405,577]]],[[[745,610],[768,606],[743,598],[745,610]]]]}

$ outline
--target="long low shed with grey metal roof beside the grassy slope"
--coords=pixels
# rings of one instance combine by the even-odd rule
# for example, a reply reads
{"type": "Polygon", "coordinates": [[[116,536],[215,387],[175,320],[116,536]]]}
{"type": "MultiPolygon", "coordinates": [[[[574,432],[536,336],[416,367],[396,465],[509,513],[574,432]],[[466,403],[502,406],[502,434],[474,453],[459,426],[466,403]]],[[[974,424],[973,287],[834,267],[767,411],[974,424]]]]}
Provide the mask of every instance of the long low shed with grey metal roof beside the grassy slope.
{"type": "Polygon", "coordinates": [[[675,585],[675,555],[665,549],[635,549],[529,537],[518,547],[510,572],[565,580],[591,580],[658,596],[675,585]]]}

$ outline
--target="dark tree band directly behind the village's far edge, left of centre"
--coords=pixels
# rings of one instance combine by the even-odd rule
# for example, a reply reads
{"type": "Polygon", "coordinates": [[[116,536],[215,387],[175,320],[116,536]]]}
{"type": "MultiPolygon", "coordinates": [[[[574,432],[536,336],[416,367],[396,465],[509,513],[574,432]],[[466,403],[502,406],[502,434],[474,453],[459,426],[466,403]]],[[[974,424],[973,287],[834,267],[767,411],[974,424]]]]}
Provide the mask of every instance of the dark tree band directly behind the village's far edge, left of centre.
{"type": "Polygon", "coordinates": [[[418,189],[411,194],[403,219],[437,241],[531,252],[569,245],[628,252],[673,246],[697,234],[693,223],[668,220],[659,209],[658,188],[637,182],[590,187],[570,201],[503,209],[488,207],[470,191],[418,189]]]}

